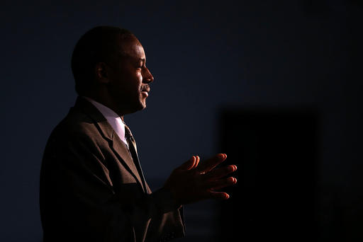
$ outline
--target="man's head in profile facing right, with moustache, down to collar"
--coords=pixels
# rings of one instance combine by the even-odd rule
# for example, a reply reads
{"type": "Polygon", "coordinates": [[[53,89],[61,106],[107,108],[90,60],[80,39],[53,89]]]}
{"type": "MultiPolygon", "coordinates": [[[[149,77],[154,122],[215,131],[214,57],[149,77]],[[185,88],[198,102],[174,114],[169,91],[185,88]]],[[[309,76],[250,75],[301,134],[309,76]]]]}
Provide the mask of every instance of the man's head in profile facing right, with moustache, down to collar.
{"type": "Polygon", "coordinates": [[[89,96],[119,115],[146,107],[154,79],[146,65],[143,46],[130,31],[99,26],[77,42],[72,72],[79,96],[89,96]]]}

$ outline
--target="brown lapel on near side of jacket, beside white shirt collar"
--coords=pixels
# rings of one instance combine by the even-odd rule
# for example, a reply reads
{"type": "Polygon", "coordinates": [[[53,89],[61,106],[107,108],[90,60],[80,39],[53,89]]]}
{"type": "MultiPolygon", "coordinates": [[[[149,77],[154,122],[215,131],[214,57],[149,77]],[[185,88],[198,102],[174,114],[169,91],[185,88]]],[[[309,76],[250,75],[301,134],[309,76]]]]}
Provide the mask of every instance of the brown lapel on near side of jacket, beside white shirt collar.
{"type": "Polygon", "coordinates": [[[86,113],[86,115],[89,115],[92,120],[94,120],[94,124],[96,125],[97,129],[99,129],[102,137],[108,140],[110,149],[114,154],[116,154],[118,160],[138,181],[141,188],[145,190],[138,173],[138,169],[136,168],[126,145],[121,141],[116,132],[114,132],[111,125],[107,122],[106,117],[104,117],[104,115],[102,115],[102,113],[92,103],[82,97],[77,98],[74,109],[81,110],[83,113],[86,113]]]}

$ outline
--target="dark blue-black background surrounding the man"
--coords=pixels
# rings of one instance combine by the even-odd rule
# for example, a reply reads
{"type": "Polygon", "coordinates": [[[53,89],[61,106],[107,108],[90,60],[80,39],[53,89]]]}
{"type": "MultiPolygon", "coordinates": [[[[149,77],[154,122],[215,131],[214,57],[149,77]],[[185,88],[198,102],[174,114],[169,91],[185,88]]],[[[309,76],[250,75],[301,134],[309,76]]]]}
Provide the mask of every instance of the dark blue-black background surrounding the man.
{"type": "Polygon", "coordinates": [[[194,154],[238,163],[228,202],[186,206],[183,241],[363,238],[361,1],[2,1],[0,11],[0,241],[41,241],[43,149],[76,98],[74,44],[95,25],[128,28],[145,47],[152,93],[125,119],[152,189],[194,154]]]}

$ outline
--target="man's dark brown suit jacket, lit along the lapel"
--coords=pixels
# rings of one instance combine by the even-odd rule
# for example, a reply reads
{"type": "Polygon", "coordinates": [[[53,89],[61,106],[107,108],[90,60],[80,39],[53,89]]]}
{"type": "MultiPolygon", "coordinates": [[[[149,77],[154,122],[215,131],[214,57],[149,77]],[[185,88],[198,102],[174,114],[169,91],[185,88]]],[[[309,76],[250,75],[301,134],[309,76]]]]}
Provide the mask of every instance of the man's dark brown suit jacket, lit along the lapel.
{"type": "Polygon", "coordinates": [[[99,110],[81,97],[45,147],[40,215],[44,242],[168,241],[184,236],[182,207],[169,191],[143,187],[125,144],[99,110]]]}

